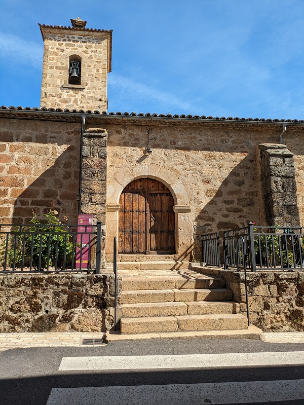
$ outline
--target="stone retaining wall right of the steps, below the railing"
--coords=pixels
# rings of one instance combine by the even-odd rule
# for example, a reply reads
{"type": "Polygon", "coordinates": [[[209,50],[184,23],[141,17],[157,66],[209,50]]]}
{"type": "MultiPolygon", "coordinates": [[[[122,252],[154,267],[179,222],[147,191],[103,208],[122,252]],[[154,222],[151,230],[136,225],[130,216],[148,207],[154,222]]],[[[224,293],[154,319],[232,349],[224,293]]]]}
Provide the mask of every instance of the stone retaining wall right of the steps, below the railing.
{"type": "MultiPolygon", "coordinates": [[[[206,269],[225,279],[246,314],[244,272],[206,269]]],[[[264,332],[304,331],[304,271],[247,273],[250,322],[264,332]]]]}

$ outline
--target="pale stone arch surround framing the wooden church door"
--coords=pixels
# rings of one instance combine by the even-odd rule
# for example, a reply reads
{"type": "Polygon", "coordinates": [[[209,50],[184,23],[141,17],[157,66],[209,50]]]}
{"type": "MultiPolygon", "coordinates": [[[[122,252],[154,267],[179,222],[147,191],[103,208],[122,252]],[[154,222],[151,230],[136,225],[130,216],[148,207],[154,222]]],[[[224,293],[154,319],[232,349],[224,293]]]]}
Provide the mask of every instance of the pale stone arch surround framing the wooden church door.
{"type": "Polygon", "coordinates": [[[113,253],[113,238],[119,233],[119,199],[125,187],[138,178],[153,178],[161,181],[171,192],[174,200],[175,213],[175,250],[176,256],[185,258],[193,245],[192,204],[189,194],[179,179],[178,173],[155,163],[138,163],[132,168],[117,171],[113,180],[107,184],[107,213],[106,213],[106,254],[113,253]]]}

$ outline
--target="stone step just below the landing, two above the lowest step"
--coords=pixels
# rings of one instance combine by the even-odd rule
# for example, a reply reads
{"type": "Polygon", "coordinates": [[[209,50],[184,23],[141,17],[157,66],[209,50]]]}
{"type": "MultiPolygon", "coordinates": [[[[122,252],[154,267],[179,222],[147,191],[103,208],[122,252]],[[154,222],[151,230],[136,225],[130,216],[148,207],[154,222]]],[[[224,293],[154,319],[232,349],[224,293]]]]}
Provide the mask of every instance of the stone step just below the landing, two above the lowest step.
{"type": "Polygon", "coordinates": [[[121,293],[121,304],[231,300],[232,291],[226,288],[127,290],[121,293]]]}

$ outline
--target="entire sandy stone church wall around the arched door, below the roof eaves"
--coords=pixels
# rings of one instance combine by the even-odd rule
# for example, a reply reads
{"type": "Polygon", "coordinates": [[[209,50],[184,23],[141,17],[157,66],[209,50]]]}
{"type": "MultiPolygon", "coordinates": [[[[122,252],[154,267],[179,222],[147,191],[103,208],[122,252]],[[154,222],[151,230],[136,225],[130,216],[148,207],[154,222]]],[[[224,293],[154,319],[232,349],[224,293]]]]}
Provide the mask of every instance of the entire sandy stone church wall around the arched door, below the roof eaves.
{"type": "MultiPolygon", "coordinates": [[[[25,116],[25,112],[22,114],[25,116]]],[[[40,116],[43,118],[42,114],[40,116]]],[[[195,257],[199,257],[198,238],[203,233],[239,228],[248,220],[266,225],[260,213],[255,148],[265,141],[277,142],[281,127],[248,123],[166,125],[161,119],[146,120],[148,126],[141,119],[145,117],[128,117],[125,122],[119,116],[87,117],[87,127],[104,128],[108,132],[108,251],[118,232],[120,193],[138,177],[156,178],[171,190],[175,203],[176,253],[180,259],[192,260],[193,248],[195,257]],[[151,154],[145,153],[148,131],[151,154]]],[[[42,215],[53,204],[61,218],[64,214],[69,222],[75,222],[81,122],[24,118],[2,119],[1,123],[0,220],[28,222],[32,209],[38,208],[38,214],[42,215]]],[[[283,141],[295,154],[299,221],[303,224],[304,144],[301,134],[302,127],[287,126],[283,141]]],[[[105,160],[100,160],[101,165],[105,160]]],[[[99,184],[104,180],[94,181],[99,184]]],[[[94,203],[90,201],[95,205],[90,209],[96,208],[95,214],[103,216],[104,221],[104,193],[97,192],[98,187],[93,193],[94,203]]]]}

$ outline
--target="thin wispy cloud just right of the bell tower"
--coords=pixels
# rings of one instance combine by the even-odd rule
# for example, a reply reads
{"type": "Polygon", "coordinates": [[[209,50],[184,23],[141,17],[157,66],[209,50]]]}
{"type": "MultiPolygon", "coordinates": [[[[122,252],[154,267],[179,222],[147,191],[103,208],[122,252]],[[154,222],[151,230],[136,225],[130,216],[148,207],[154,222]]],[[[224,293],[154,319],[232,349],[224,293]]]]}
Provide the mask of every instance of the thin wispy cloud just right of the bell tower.
{"type": "Polygon", "coordinates": [[[108,76],[108,84],[115,88],[116,94],[112,94],[115,99],[127,98],[130,101],[134,100],[134,104],[138,104],[140,100],[145,100],[145,103],[147,103],[147,100],[151,100],[160,103],[160,107],[177,107],[185,110],[189,109],[191,106],[187,101],[171,93],[161,91],[156,87],[150,87],[143,83],[134,82],[129,78],[115,73],[111,73],[108,76]]]}

